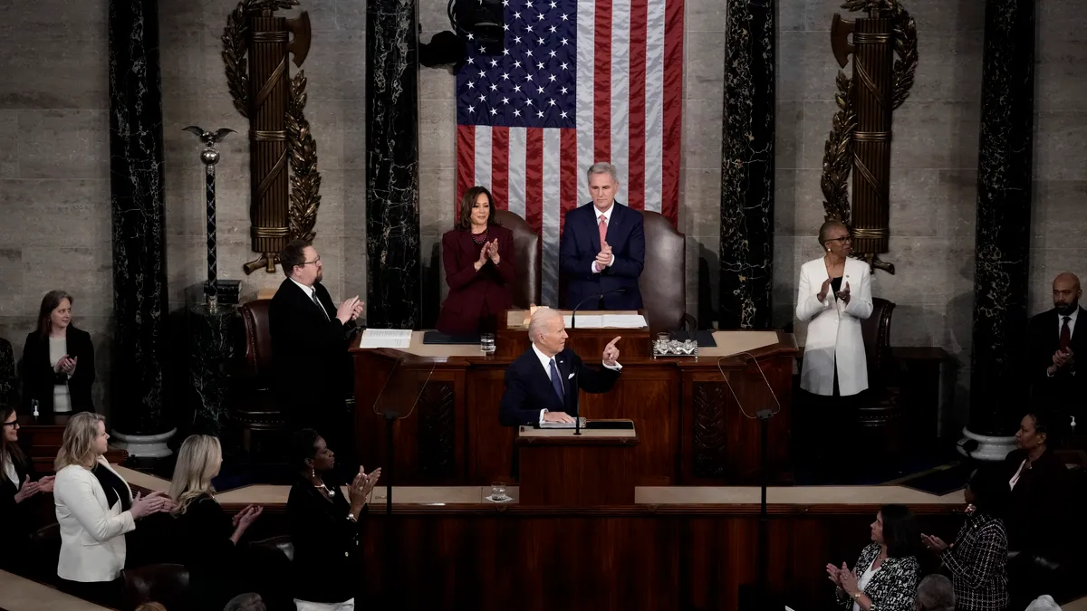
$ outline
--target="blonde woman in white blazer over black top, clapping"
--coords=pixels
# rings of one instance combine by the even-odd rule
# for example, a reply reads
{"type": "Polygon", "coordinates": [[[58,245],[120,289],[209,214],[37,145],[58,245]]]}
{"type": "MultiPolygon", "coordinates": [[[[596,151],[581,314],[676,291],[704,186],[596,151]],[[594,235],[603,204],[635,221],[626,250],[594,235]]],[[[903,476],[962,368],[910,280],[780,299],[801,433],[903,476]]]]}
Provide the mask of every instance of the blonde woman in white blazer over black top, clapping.
{"type": "Polygon", "coordinates": [[[125,533],[136,520],[171,503],[161,492],[133,499],[132,489],[102,457],[110,436],[93,412],[68,420],[57,454],[53,499],[61,531],[57,576],[63,589],[104,607],[117,607],[117,577],[125,568],[125,533]]]}

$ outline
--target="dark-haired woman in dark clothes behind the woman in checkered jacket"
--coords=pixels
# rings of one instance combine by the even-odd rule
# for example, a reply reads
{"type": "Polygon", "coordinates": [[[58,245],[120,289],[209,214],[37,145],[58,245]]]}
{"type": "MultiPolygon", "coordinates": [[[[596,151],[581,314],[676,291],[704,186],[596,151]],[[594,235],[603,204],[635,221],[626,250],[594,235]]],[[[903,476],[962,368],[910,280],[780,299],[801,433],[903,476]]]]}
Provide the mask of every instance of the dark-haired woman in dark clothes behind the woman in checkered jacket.
{"type": "Polygon", "coordinates": [[[1005,526],[1011,558],[1008,565],[1013,608],[1025,608],[1044,595],[1058,595],[1065,579],[1065,545],[1071,520],[1069,471],[1053,453],[1054,419],[1033,410],[1020,421],[1017,450],[1004,459],[1004,475],[1011,488],[1005,526]]]}

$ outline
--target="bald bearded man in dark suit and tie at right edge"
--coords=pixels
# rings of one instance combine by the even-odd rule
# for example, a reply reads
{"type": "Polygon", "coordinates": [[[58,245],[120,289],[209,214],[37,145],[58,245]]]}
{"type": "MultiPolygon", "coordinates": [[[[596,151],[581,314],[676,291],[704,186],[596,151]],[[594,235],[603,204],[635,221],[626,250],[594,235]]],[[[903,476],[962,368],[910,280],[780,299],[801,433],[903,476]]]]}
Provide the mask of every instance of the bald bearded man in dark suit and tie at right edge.
{"type": "MultiPolygon", "coordinates": [[[[1087,359],[1087,327],[1077,326],[1084,315],[1079,307],[1079,278],[1064,272],[1053,279],[1053,309],[1033,319],[1027,326],[1027,359],[1035,404],[1079,415],[1087,385],[1087,366],[1079,371],[1078,360],[1087,359]]],[[[1085,321],[1087,324],[1087,321],[1085,321]]]]}

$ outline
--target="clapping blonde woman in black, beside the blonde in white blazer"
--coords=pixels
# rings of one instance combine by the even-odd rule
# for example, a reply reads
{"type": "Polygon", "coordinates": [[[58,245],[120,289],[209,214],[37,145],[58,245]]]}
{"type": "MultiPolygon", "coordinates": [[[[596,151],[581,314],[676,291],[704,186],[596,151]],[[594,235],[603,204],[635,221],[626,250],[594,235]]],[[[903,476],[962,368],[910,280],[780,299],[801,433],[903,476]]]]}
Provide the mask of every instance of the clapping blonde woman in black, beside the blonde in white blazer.
{"type": "Polygon", "coordinates": [[[218,439],[210,435],[190,435],[177,452],[177,463],[170,484],[170,497],[176,503],[177,534],[196,609],[222,609],[247,587],[247,563],[237,549],[238,541],[262,508],[249,506],[233,519],[213,496],[211,481],[223,464],[218,439]]]}

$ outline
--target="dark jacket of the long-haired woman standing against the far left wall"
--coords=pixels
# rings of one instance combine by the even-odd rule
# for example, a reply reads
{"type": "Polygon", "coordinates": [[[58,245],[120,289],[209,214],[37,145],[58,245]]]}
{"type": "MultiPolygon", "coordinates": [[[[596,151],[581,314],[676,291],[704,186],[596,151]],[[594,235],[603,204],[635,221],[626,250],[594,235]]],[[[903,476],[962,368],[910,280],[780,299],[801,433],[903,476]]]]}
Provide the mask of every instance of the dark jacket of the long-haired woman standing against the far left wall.
{"type": "Polygon", "coordinates": [[[23,409],[30,413],[30,400],[38,400],[41,415],[53,412],[53,386],[67,382],[68,394],[72,396],[73,412],[92,412],[95,404],[90,399],[90,387],[95,384],[95,346],[90,342],[90,334],[68,325],[67,354],[77,359],[75,374],[72,379],[67,375],[53,371],[49,362],[49,338],[41,337],[38,332],[26,336],[23,346],[23,409]]]}

